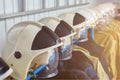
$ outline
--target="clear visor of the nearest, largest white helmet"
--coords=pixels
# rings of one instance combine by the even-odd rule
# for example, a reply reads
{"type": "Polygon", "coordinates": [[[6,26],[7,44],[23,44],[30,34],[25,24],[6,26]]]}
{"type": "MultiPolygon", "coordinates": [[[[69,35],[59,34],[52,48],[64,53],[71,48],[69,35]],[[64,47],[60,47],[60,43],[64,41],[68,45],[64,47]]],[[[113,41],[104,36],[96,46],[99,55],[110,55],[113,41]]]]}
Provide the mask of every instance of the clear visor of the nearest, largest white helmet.
{"type": "Polygon", "coordinates": [[[31,63],[28,75],[31,78],[50,78],[58,73],[59,53],[57,48],[50,49],[47,52],[37,56],[31,63]],[[38,69],[40,69],[38,71],[38,69]]]}

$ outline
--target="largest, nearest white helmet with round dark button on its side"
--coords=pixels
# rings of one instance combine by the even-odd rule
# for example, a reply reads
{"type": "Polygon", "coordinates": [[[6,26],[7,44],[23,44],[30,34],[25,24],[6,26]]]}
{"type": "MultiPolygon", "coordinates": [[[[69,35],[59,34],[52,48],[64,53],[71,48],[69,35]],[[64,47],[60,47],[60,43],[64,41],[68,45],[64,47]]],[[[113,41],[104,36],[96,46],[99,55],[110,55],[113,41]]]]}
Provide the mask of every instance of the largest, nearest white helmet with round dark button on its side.
{"type": "Polygon", "coordinates": [[[11,76],[15,79],[36,74],[36,68],[43,65],[40,77],[51,77],[57,74],[59,46],[59,37],[43,24],[21,22],[8,31],[2,58],[13,69],[11,76]]]}

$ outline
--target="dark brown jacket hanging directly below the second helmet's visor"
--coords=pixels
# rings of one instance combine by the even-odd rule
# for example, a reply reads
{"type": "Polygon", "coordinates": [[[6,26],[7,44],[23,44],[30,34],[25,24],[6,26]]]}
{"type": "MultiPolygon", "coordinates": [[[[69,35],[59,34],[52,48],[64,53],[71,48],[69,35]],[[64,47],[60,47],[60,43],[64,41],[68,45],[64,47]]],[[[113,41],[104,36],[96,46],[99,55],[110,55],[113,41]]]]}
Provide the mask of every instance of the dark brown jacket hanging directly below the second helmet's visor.
{"type": "MultiPolygon", "coordinates": [[[[90,79],[99,80],[91,61],[82,52],[73,52],[73,57],[67,61],[61,61],[59,69],[61,71],[82,70],[90,79]]],[[[81,78],[80,78],[81,79],[81,78]]]]}

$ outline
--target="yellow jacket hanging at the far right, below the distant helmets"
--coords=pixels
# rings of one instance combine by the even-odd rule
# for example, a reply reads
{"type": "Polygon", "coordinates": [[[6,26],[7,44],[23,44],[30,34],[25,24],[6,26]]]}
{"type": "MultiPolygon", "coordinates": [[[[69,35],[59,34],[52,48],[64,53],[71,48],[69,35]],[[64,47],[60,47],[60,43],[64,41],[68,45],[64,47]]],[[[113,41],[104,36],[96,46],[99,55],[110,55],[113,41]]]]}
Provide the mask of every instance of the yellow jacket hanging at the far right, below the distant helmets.
{"type": "Polygon", "coordinates": [[[120,79],[120,21],[113,19],[101,31],[95,31],[95,41],[105,47],[109,70],[114,79],[120,79]]]}

